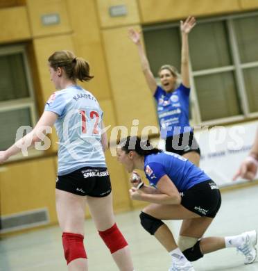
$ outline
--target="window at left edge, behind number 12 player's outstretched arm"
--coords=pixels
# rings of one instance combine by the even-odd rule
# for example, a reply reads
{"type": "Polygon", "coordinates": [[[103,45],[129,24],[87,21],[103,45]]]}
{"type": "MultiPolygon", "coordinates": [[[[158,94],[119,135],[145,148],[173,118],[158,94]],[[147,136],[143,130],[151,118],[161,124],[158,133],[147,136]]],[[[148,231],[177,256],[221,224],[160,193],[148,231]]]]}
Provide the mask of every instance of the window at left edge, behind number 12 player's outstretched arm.
{"type": "Polygon", "coordinates": [[[35,125],[35,101],[26,46],[0,47],[0,150],[15,142],[20,126],[35,125]]]}

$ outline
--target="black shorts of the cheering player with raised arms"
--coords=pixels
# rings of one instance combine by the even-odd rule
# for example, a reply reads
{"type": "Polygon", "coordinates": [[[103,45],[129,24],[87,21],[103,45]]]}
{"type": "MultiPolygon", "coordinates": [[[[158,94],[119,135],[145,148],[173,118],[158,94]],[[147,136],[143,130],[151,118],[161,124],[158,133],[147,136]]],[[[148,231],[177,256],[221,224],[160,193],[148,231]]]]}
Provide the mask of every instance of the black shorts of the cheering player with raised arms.
{"type": "Polygon", "coordinates": [[[193,136],[193,132],[180,133],[179,135],[166,138],[166,151],[184,155],[190,151],[196,151],[200,155],[200,148],[193,136]]]}

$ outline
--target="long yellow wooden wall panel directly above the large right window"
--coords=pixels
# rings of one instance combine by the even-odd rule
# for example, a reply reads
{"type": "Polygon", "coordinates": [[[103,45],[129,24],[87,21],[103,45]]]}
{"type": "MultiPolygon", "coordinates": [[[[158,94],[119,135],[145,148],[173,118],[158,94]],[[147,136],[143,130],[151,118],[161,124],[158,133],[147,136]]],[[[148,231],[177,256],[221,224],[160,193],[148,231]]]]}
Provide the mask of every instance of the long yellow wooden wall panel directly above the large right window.
{"type": "Polygon", "coordinates": [[[162,0],[162,3],[156,0],[138,0],[138,2],[141,23],[164,22],[189,15],[197,17],[241,11],[239,0],[162,0]]]}

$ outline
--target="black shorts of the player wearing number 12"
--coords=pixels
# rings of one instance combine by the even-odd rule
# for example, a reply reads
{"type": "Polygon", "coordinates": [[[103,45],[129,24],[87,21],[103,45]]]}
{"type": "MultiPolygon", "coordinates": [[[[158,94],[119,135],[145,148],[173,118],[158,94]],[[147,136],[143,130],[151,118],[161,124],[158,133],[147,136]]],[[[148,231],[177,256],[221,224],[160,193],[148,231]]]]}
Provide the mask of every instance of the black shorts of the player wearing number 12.
{"type": "Polygon", "coordinates": [[[55,188],[90,197],[106,197],[112,190],[110,174],[105,167],[83,167],[58,176],[55,188]]]}

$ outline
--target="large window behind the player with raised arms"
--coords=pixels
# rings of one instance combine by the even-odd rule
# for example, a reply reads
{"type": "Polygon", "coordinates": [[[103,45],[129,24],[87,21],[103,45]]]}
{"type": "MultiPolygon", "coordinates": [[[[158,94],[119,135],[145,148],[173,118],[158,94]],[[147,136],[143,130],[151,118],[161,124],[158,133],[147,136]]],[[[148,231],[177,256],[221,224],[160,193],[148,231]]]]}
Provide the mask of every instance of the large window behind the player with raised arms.
{"type": "MultiPolygon", "coordinates": [[[[258,14],[200,19],[189,35],[193,124],[258,116],[258,14]]],[[[146,54],[157,73],[180,70],[179,24],[144,27],[146,54]]]]}

